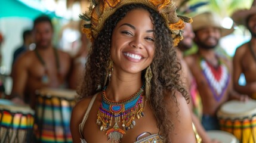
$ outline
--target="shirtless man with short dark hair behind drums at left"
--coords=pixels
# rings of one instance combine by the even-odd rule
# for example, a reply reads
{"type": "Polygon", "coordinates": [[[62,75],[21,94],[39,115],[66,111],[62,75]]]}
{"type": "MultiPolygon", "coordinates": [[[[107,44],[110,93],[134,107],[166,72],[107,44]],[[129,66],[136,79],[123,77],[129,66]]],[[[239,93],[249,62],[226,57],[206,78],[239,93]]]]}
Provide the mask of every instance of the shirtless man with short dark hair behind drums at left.
{"type": "Polygon", "coordinates": [[[50,18],[36,18],[32,32],[36,49],[24,53],[14,63],[11,98],[14,102],[26,102],[34,108],[37,89],[64,86],[71,58],[69,54],[53,47],[53,24],[50,18]]]}

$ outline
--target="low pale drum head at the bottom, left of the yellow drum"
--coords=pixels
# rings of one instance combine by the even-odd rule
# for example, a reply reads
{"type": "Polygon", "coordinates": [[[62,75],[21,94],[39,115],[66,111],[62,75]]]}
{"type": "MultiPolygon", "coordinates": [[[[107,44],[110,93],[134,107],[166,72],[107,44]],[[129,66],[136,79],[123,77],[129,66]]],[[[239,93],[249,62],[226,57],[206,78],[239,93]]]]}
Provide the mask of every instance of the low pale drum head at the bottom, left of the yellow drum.
{"type": "Polygon", "coordinates": [[[207,134],[211,139],[217,139],[221,143],[239,143],[238,139],[234,135],[222,130],[208,130],[207,134]]]}

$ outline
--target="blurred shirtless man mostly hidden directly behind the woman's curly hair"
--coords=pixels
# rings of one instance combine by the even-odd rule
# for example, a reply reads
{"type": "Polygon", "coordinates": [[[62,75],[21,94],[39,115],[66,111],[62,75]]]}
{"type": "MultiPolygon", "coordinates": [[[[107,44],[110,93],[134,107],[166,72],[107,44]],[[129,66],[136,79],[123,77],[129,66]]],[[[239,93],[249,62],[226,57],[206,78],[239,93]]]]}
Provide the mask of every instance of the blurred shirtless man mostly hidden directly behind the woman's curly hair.
{"type": "MultiPolygon", "coordinates": [[[[180,59],[181,67],[183,71],[184,83],[186,83],[187,89],[190,91],[190,110],[192,112],[192,121],[198,131],[199,136],[202,139],[203,143],[218,143],[217,140],[209,138],[206,134],[205,129],[201,125],[201,117],[202,117],[202,102],[200,95],[198,94],[198,90],[196,89],[196,83],[192,76],[192,73],[187,66],[187,63],[183,59],[183,52],[190,49],[192,47],[193,38],[195,34],[192,29],[192,25],[186,23],[186,27],[183,29],[183,40],[178,44],[177,48],[177,56],[180,59]]],[[[197,138],[198,139],[198,138],[197,138]]]]}

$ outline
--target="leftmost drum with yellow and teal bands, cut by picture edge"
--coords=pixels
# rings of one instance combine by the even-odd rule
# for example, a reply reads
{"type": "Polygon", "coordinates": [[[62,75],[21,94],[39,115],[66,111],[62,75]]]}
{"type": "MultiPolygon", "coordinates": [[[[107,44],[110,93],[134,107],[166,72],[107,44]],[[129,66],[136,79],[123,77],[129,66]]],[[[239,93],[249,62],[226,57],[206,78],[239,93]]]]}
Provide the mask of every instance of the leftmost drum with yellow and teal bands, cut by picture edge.
{"type": "Polygon", "coordinates": [[[0,100],[0,142],[32,142],[34,114],[29,106],[0,100]]]}

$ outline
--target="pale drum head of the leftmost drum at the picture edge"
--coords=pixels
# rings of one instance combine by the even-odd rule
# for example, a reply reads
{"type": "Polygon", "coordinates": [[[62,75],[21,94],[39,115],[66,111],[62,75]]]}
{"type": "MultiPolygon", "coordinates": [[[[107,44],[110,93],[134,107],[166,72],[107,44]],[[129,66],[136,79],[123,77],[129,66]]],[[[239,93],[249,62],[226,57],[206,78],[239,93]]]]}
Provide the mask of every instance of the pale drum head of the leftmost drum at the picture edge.
{"type": "Polygon", "coordinates": [[[28,105],[17,105],[10,100],[0,99],[0,110],[8,110],[13,113],[35,114],[35,111],[33,111],[28,105]]]}

